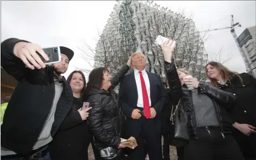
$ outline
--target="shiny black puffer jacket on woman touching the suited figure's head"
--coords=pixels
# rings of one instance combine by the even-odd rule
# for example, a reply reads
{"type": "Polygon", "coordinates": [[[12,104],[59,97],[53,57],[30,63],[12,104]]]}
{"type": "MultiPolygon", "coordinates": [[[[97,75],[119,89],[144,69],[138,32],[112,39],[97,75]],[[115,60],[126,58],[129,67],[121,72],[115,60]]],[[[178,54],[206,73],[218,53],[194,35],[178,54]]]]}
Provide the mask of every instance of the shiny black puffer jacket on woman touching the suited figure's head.
{"type": "Polygon", "coordinates": [[[124,114],[114,88],[128,70],[129,66],[125,65],[111,78],[111,87],[108,91],[91,89],[86,93],[87,102],[92,107],[89,110],[89,128],[94,137],[94,144],[98,149],[108,146],[117,149],[121,143],[120,134],[124,122],[124,114]]]}

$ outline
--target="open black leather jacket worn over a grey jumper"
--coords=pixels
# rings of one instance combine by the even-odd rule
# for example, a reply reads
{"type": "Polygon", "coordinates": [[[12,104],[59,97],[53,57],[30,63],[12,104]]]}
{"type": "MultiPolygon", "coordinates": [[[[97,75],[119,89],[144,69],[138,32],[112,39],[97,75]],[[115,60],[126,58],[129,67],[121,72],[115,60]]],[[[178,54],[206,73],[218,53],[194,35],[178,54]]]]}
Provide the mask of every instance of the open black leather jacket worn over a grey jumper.
{"type": "MultiPolygon", "coordinates": [[[[182,108],[188,115],[189,137],[198,139],[192,91],[188,90],[186,85],[181,86],[177,70],[173,63],[165,62],[165,71],[170,87],[170,100],[175,105],[178,104],[181,98],[180,105],[182,105],[182,108]]],[[[212,99],[222,137],[225,139],[225,134],[232,134],[233,126],[231,119],[227,115],[226,108],[234,106],[236,100],[235,95],[215,88],[211,84],[201,82],[198,86],[198,94],[205,94],[212,99]]]]}

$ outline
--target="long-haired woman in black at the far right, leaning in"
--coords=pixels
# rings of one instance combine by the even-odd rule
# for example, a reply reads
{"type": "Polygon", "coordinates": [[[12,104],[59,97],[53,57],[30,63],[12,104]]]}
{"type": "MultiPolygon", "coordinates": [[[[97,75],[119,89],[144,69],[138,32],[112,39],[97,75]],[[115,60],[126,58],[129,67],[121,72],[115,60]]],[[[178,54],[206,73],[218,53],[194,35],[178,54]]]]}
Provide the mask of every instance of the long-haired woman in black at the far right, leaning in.
{"type": "Polygon", "coordinates": [[[229,90],[237,97],[235,107],[228,110],[233,123],[233,136],[245,159],[256,159],[256,79],[246,73],[238,74],[218,62],[206,65],[211,84],[229,90]]]}

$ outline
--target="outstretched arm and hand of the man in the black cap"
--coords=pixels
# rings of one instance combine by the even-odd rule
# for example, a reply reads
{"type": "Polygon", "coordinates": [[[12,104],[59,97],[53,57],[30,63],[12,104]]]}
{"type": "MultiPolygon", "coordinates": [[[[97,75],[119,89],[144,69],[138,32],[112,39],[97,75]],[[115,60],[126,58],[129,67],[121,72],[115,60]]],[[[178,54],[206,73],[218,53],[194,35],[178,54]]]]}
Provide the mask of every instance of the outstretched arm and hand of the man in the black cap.
{"type": "Polygon", "coordinates": [[[49,60],[37,44],[17,38],[6,39],[1,43],[1,66],[17,81],[22,81],[28,75],[29,69],[45,68],[36,52],[41,54],[45,60],[49,60]]]}

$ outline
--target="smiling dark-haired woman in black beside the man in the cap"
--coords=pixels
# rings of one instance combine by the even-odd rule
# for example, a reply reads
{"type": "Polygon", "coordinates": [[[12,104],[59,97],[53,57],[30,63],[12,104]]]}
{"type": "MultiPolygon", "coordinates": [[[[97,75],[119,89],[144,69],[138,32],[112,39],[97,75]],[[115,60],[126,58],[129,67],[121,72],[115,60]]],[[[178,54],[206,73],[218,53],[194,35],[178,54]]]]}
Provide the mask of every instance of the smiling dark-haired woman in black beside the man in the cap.
{"type": "Polygon", "coordinates": [[[73,91],[73,108],[49,145],[50,157],[52,160],[88,159],[88,146],[92,137],[87,118],[91,107],[82,110],[83,102],[81,101],[81,96],[86,89],[86,78],[82,71],[75,70],[68,76],[67,81],[73,91]]]}

